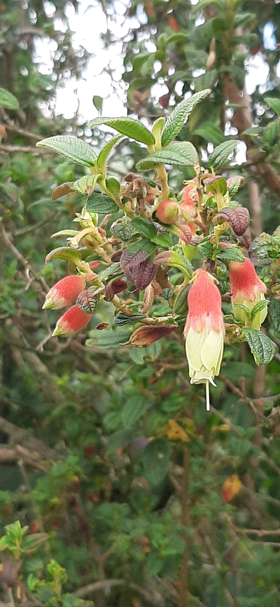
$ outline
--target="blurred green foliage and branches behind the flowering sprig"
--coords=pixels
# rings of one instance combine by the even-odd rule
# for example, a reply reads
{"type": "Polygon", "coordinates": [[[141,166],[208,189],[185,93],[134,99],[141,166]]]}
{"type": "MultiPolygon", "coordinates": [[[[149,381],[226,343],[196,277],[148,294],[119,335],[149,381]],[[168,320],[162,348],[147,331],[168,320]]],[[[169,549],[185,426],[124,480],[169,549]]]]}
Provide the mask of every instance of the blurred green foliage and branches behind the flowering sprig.
{"type": "MultiPolygon", "coordinates": [[[[131,24],[120,36],[128,114],[151,124],[210,87],[213,94],[179,138],[194,143],[203,164],[213,145],[239,136],[225,176],[245,178],[237,198],[250,209],[253,237],[280,223],[278,4],[145,0],[123,5],[122,13],[131,24]],[[256,56],[267,80],[249,97],[244,81],[256,56]]],[[[80,599],[97,607],[279,606],[279,354],[267,368],[256,367],[246,344],[227,345],[209,415],[200,387],[190,387],[180,330],[144,350],[119,348],[130,333],[116,330],[113,311],[108,318],[108,305],[101,304],[75,339],[50,338],[58,314],[41,307],[65,263],[53,259],[46,266],[44,258],[53,248],[51,234],[72,228],[83,206],[77,194],[64,202],[51,195],[84,169],[35,144],[64,133],[99,149],[111,138],[108,129],[92,132],[79,109],[71,119],[56,116],[58,87],[69,73],[81,78],[90,58],[86,49],[73,49],[67,7],[60,0],[0,4],[0,86],[19,102],[0,107],[0,524],[5,536],[4,527],[18,520],[29,527],[23,538],[31,538],[24,544],[14,526],[10,543],[0,540],[2,563],[9,551],[22,560],[14,599],[64,607],[80,599]],[[35,63],[38,38],[56,43],[49,75],[35,63]],[[109,329],[95,330],[100,322],[109,329]],[[170,419],[179,422],[188,449],[184,440],[165,437],[170,419]],[[222,486],[233,475],[241,484],[227,500],[222,486]],[[178,599],[182,531],[185,602],[180,592],[178,599]]],[[[110,24],[118,21],[118,2],[104,0],[102,9],[108,29],[100,39],[114,48],[110,24]]],[[[93,103],[102,111],[101,96],[93,103]]],[[[123,179],[144,154],[141,145],[122,142],[110,175],[123,179]]],[[[169,185],[179,191],[191,177],[191,169],[171,169],[169,185]]],[[[176,283],[175,271],[171,279],[176,283]]],[[[168,313],[165,300],[157,298],[152,312],[168,313]]],[[[279,332],[270,337],[279,345],[279,332]]],[[[2,575],[4,603],[12,600],[4,582],[12,586],[13,573],[10,584],[7,571],[2,575]]]]}

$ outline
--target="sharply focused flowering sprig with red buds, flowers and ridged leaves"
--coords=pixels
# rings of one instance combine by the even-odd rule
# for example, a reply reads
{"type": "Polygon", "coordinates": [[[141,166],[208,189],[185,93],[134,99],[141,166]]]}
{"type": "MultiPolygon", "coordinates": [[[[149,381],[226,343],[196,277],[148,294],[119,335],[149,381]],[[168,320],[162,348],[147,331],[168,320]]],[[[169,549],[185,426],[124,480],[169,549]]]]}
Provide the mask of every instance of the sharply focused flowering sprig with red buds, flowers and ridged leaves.
{"type": "MultiPolygon", "coordinates": [[[[65,259],[76,272],[47,294],[45,308],[63,307],[77,297],[58,320],[53,335],[70,335],[84,328],[102,300],[115,307],[118,327],[128,325],[131,347],[148,347],[174,330],[180,334],[186,322],[191,382],[206,384],[207,410],[209,381],[215,385],[214,376],[219,375],[224,340],[226,344],[247,341],[254,359],[262,365],[276,352],[275,343],[260,331],[267,316],[265,293],[270,276],[265,286],[248,259],[250,215],[233,200],[243,178],[236,175],[226,180],[219,175],[236,140],[217,146],[206,168],[200,167],[192,143],[174,141],[191,110],[210,93],[202,90],[182,101],[167,122],[162,118],[155,121],[152,132],[132,118],[113,121],[120,135],[146,144],[147,155],[137,168],[154,171],[154,182],[129,174],[126,185],[121,186],[108,177],[106,160],[120,136],[112,138],[98,157],[87,144],[81,148],[72,137],[51,137],[38,144],[69,157],[75,154],[88,172],[58,186],[52,195],[57,200],[76,191],[85,197],[83,210],[75,219],[80,231],[56,232],[53,237],[66,236],[68,245],[54,249],[46,258],[46,262],[65,259]],[[166,164],[193,170],[194,177],[177,195],[168,186],[166,164]],[[154,297],[168,302],[168,312],[162,317],[148,316],[154,297]],[[231,297],[232,314],[225,317],[222,297],[225,302],[231,297]]],[[[91,126],[113,122],[97,118],[91,126]]],[[[271,264],[271,276],[278,273],[277,267],[274,270],[271,264]]]]}

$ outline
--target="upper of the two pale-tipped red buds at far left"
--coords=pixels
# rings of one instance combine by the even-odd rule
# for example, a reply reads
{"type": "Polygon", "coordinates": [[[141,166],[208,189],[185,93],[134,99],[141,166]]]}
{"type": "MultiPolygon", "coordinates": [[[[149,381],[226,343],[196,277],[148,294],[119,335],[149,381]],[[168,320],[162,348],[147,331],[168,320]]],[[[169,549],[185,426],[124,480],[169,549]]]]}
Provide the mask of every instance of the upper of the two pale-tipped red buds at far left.
{"type": "Polygon", "coordinates": [[[56,285],[53,285],[47,293],[43,309],[60,310],[64,306],[72,304],[77,299],[78,294],[83,291],[85,283],[86,277],[79,274],[72,274],[58,280],[56,285]]]}

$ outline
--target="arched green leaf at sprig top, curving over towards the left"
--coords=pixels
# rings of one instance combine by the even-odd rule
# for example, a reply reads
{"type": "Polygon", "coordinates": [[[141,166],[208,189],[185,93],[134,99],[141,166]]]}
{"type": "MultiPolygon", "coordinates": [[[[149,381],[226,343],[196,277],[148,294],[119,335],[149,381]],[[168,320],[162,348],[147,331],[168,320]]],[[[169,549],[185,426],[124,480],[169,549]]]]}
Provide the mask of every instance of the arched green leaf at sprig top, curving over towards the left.
{"type": "Polygon", "coordinates": [[[89,123],[90,127],[98,126],[98,124],[106,124],[111,126],[122,135],[127,135],[131,139],[145,143],[146,146],[152,146],[155,143],[154,137],[146,127],[138,120],[133,118],[95,118],[89,123]]]}

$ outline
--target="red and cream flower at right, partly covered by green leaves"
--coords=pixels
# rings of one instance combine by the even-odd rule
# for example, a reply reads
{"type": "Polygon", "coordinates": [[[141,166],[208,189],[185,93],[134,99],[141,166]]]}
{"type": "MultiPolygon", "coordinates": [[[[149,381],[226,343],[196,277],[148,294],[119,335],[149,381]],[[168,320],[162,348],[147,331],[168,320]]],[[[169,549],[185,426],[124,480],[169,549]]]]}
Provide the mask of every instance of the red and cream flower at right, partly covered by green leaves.
{"type": "Polygon", "coordinates": [[[246,311],[239,308],[241,304],[251,311],[256,304],[265,299],[267,289],[258,278],[253,263],[247,257],[245,257],[244,262],[230,262],[228,276],[230,277],[231,304],[234,317],[236,320],[241,320],[244,325],[250,325],[251,328],[259,330],[267,316],[267,307],[262,308],[251,322],[246,311]]]}

